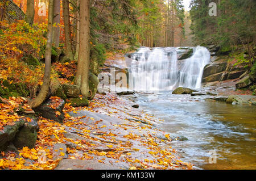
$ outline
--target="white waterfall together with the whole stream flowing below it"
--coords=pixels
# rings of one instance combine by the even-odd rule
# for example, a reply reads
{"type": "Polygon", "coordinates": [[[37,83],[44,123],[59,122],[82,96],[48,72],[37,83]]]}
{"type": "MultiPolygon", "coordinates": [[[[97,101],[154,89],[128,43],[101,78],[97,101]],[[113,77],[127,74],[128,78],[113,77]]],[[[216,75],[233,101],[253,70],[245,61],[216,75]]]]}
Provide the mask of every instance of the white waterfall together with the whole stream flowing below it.
{"type": "Polygon", "coordinates": [[[159,129],[188,138],[171,143],[183,161],[196,169],[256,169],[255,106],[171,94],[179,86],[200,89],[203,68],[209,62],[206,48],[195,48],[183,62],[177,60],[177,48],[142,48],[139,53],[131,66],[137,75],[134,89],[158,90],[158,94],[138,93],[136,102],[165,120],[159,129]],[[139,83],[142,79],[144,84],[139,83]],[[212,153],[216,163],[209,163],[212,153]]]}

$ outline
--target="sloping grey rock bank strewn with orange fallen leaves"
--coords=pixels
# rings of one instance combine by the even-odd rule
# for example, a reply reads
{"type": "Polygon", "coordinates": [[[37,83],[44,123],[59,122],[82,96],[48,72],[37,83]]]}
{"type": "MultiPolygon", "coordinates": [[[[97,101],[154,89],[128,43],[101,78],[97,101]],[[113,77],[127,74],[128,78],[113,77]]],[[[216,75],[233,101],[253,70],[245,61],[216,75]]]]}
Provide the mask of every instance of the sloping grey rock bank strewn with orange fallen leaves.
{"type": "MultiPolygon", "coordinates": [[[[66,104],[64,124],[40,117],[36,147],[2,152],[0,169],[51,170],[61,159],[91,160],[119,169],[192,169],[171,148],[169,134],[157,129],[163,120],[132,104],[110,93],[97,94],[89,107],[66,104]]],[[[23,98],[4,99],[0,104],[0,129],[18,119],[14,111],[19,105],[30,111],[23,98]]]]}

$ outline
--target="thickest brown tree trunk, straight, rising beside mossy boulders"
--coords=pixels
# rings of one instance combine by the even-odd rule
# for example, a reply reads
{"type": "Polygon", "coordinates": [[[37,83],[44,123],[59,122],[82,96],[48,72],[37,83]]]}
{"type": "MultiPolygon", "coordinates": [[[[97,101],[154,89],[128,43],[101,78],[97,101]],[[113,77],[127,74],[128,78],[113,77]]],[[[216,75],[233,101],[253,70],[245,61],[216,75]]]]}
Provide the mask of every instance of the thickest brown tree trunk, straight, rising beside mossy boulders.
{"type": "Polygon", "coordinates": [[[80,0],[80,44],[75,83],[80,86],[81,94],[87,99],[89,92],[90,66],[90,1],[80,0]]]}

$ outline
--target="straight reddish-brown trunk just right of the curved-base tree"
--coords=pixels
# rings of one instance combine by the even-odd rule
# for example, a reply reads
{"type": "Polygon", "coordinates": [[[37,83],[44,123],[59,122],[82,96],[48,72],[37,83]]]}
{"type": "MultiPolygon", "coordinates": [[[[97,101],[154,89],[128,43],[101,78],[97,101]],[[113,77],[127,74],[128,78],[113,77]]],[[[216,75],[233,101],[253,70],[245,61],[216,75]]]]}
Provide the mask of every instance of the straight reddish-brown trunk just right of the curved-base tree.
{"type": "Polygon", "coordinates": [[[53,45],[59,47],[60,45],[60,0],[54,0],[54,10],[53,10],[53,24],[56,26],[53,27],[53,45]]]}

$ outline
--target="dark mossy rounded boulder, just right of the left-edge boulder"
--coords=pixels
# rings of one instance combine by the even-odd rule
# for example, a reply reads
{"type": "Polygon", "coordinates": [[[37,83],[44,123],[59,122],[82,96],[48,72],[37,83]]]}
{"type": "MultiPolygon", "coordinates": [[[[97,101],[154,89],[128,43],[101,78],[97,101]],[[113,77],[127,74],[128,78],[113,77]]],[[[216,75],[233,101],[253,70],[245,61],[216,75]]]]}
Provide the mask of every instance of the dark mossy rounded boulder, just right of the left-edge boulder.
{"type": "Polygon", "coordinates": [[[27,146],[32,149],[35,148],[36,139],[38,138],[37,131],[38,127],[38,118],[34,117],[28,122],[27,119],[24,119],[24,125],[19,128],[18,133],[16,133],[13,144],[16,148],[22,149],[27,146]]]}

